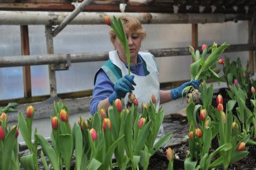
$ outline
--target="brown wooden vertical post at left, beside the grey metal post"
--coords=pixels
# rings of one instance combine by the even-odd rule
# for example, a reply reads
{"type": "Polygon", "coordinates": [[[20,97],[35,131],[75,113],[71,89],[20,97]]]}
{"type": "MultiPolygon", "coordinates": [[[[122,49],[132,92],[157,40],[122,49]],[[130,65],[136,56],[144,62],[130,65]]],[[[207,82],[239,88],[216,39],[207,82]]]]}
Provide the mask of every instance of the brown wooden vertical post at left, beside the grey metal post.
{"type": "MultiPolygon", "coordinates": [[[[28,36],[28,25],[20,25],[20,39],[22,55],[29,55],[29,36],[28,36]]],[[[30,66],[22,67],[23,70],[23,86],[24,86],[24,97],[31,97],[31,71],[30,66]]]]}

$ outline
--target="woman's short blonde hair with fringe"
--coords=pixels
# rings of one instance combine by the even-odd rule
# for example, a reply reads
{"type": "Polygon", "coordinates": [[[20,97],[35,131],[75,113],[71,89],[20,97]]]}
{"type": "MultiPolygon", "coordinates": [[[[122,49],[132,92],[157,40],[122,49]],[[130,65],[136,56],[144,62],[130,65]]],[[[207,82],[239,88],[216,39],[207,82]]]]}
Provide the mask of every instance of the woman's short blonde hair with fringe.
{"type": "MultiPolygon", "coordinates": [[[[134,33],[138,34],[142,39],[146,37],[147,33],[145,29],[142,28],[141,22],[139,22],[138,19],[135,19],[130,16],[123,16],[123,17],[120,17],[120,19],[123,21],[124,29],[126,28],[130,29],[130,31],[133,31],[134,33]]],[[[111,38],[114,38],[114,39],[116,37],[113,29],[109,31],[109,35],[111,38]]]]}

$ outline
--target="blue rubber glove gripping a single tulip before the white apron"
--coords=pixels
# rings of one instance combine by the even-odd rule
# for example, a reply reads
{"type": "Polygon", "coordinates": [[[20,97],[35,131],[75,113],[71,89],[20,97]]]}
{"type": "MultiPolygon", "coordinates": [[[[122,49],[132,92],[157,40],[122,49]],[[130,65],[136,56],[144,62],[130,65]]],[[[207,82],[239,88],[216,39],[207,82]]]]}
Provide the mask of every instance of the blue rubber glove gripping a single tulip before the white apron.
{"type": "Polygon", "coordinates": [[[133,85],[136,85],[136,83],[133,81],[133,79],[134,75],[127,74],[126,76],[121,77],[117,83],[115,83],[114,92],[108,97],[109,103],[111,103],[111,105],[115,99],[124,98],[126,93],[134,90],[133,85]]]}

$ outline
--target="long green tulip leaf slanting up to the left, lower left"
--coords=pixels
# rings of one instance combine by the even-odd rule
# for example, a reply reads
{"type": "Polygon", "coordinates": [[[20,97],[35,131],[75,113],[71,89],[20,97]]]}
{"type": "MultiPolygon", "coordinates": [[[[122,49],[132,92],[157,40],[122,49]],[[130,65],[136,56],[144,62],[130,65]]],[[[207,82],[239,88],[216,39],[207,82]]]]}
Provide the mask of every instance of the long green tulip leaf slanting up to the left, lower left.
{"type": "Polygon", "coordinates": [[[43,138],[43,136],[36,134],[35,138],[37,138],[39,144],[42,147],[43,152],[48,156],[50,162],[52,163],[53,169],[58,170],[59,164],[58,164],[58,156],[53,150],[53,148],[48,144],[46,139],[43,138]]]}

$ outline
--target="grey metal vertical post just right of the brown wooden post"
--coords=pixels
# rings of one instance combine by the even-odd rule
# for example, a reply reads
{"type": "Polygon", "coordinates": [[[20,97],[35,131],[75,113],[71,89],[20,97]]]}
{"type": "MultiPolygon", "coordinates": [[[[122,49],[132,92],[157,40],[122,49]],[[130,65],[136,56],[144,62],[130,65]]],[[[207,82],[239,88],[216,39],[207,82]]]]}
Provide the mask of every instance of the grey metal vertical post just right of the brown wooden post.
{"type": "MultiPolygon", "coordinates": [[[[45,34],[46,34],[46,46],[47,53],[53,54],[53,36],[52,36],[52,26],[45,26],[45,34]]],[[[50,97],[55,98],[57,96],[57,87],[56,87],[56,77],[55,70],[52,69],[52,65],[48,65],[49,69],[49,80],[50,80],[50,97]]]]}

